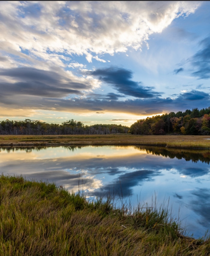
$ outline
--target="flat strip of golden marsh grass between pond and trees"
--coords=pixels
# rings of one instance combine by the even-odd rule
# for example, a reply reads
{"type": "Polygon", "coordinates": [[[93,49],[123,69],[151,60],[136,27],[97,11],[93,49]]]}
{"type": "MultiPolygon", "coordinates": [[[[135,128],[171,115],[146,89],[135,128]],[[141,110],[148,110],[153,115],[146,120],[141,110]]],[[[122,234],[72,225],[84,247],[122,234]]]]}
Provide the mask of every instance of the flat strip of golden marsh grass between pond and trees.
{"type": "Polygon", "coordinates": [[[3,135],[0,146],[33,145],[153,145],[168,148],[210,148],[210,136],[190,135],[3,135]]]}

